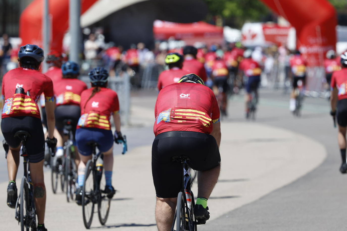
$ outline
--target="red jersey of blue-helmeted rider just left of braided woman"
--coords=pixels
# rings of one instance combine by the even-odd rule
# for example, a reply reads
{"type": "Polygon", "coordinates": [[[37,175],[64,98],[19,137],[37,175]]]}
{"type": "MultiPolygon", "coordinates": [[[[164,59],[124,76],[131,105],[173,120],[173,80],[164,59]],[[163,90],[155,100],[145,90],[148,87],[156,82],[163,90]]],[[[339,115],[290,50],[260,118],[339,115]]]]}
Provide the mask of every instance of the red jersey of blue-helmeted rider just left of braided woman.
{"type": "Polygon", "coordinates": [[[79,105],[81,93],[87,89],[87,85],[79,79],[63,78],[54,83],[54,95],[59,105],[79,105]]]}

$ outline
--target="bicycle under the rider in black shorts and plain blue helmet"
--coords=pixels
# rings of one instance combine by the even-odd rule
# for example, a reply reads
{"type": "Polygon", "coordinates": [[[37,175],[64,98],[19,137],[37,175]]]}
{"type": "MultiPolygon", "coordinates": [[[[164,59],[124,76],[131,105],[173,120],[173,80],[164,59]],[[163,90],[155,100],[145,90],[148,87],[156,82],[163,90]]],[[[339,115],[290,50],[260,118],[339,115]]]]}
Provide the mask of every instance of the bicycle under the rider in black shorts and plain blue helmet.
{"type": "Polygon", "coordinates": [[[76,179],[77,179],[77,166],[74,160],[75,147],[73,144],[73,121],[71,119],[64,119],[64,135],[69,138],[64,144],[64,156],[65,156],[65,171],[64,179],[66,184],[66,199],[67,202],[74,200],[74,195],[76,192],[76,179]]]}

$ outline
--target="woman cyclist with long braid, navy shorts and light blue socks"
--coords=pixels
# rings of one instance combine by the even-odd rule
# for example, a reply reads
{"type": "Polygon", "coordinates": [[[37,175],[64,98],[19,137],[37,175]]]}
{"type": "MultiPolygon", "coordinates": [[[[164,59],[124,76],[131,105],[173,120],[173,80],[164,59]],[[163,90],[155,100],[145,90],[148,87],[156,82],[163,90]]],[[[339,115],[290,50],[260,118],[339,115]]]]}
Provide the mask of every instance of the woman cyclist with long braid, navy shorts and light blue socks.
{"type": "Polygon", "coordinates": [[[105,169],[105,193],[113,197],[116,190],[112,187],[113,136],[109,117],[112,114],[115,123],[115,142],[124,141],[120,132],[119,102],[117,93],[107,88],[108,72],[104,68],[94,68],[89,73],[92,88],[81,94],[81,117],[76,130],[76,143],[81,161],[78,165],[78,186],[76,201],[81,204],[82,187],[86,163],[92,159],[91,142],[98,144],[103,152],[105,169]]]}

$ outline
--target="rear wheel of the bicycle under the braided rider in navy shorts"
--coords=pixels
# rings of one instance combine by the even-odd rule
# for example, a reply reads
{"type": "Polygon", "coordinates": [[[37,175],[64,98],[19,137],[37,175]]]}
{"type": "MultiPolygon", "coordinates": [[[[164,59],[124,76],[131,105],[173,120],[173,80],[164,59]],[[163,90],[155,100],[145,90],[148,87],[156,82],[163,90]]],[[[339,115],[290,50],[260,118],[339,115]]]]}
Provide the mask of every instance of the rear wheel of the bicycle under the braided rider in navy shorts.
{"type": "Polygon", "coordinates": [[[83,192],[82,192],[82,215],[83,215],[83,223],[86,229],[90,228],[90,225],[92,224],[93,215],[94,215],[94,192],[95,192],[95,174],[93,173],[93,162],[92,160],[88,160],[84,175],[84,181],[83,181],[83,192]],[[90,178],[91,177],[91,178],[90,178]],[[89,180],[88,180],[89,179],[89,180]],[[90,186],[92,180],[92,189],[90,186]],[[87,182],[88,181],[88,182],[87,182]],[[88,184],[88,185],[87,185],[88,184]],[[88,191],[88,192],[86,192],[88,191]],[[89,214],[90,217],[88,217],[88,208],[87,205],[91,205],[89,214]]]}

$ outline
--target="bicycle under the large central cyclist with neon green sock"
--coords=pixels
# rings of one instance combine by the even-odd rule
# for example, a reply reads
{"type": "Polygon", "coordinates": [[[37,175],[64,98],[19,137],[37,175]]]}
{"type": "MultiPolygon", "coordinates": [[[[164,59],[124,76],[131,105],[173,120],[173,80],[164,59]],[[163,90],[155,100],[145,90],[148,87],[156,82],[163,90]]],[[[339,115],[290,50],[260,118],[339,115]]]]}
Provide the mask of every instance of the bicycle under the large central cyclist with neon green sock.
{"type": "Polygon", "coordinates": [[[198,224],[205,224],[206,221],[197,221],[194,217],[194,194],[191,190],[192,178],[190,175],[190,167],[187,164],[189,158],[186,156],[174,156],[172,161],[177,161],[181,164],[182,187],[177,196],[177,206],[172,223],[172,231],[195,231],[198,224]],[[176,224],[176,229],[175,228],[176,224]]]}

